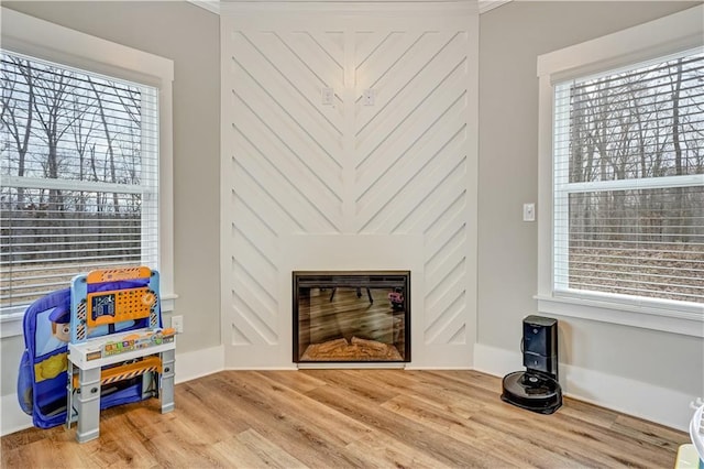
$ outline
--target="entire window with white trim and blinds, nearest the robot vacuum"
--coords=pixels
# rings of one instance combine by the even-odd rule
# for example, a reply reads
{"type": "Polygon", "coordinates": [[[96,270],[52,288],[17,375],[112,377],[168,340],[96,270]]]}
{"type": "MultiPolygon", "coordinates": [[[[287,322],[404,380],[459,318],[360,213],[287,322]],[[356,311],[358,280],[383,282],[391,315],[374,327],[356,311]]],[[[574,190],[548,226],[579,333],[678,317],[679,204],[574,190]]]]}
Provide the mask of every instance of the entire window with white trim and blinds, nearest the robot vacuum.
{"type": "Polygon", "coordinates": [[[604,308],[620,309],[641,314],[624,324],[703,334],[701,14],[539,58],[541,185],[551,182],[540,308],[616,321],[604,308]],[[642,313],[690,323],[669,329],[642,313]]]}

